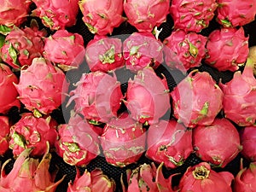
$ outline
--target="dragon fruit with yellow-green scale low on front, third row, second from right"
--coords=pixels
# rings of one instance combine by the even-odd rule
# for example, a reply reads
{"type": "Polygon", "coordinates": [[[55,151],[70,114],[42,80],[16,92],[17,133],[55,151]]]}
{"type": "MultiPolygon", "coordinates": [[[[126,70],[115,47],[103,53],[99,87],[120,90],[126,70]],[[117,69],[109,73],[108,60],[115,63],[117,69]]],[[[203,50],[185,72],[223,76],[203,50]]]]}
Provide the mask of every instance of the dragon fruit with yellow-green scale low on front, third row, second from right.
{"type": "Polygon", "coordinates": [[[171,96],[174,117],[190,128],[211,125],[223,107],[223,92],[207,72],[190,72],[171,96]]]}

